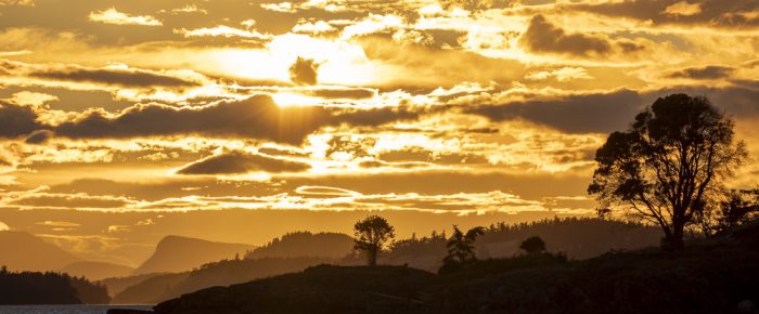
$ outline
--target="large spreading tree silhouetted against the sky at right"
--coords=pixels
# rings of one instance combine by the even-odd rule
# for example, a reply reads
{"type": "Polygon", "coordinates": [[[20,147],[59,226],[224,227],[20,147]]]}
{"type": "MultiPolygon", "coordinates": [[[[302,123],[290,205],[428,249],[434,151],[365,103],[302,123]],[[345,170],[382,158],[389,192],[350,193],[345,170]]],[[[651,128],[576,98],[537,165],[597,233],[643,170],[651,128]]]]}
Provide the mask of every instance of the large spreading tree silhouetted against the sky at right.
{"type": "Polygon", "coordinates": [[[658,224],[662,246],[682,249],[684,228],[711,209],[722,182],[747,156],[733,138],[733,121],[706,97],[658,99],[599,148],[588,192],[605,209],[658,224]]]}

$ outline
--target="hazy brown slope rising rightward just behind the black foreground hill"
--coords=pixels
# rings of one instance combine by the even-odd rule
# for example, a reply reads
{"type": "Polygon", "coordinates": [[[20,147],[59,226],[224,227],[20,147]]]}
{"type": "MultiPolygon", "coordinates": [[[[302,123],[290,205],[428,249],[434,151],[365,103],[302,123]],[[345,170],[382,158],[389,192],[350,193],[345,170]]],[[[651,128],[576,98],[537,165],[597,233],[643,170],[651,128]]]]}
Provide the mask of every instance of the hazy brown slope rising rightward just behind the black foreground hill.
{"type": "Polygon", "coordinates": [[[224,260],[205,264],[192,272],[156,275],[125,288],[114,297],[115,304],[155,304],[214,286],[229,286],[334,262],[325,258],[224,260]]]}

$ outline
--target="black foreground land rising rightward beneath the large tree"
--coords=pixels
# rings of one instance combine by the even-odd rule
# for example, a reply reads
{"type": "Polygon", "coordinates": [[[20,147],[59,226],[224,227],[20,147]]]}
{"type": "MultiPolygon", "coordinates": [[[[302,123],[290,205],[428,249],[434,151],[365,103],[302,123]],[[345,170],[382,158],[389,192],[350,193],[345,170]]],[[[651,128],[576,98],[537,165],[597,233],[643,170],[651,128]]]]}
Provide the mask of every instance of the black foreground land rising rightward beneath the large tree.
{"type": "MultiPolygon", "coordinates": [[[[154,308],[234,313],[759,313],[759,225],[685,251],[539,254],[436,275],[403,266],[330,266],[215,287],[154,308]]],[[[115,313],[115,312],[112,312],[115,313]]]]}

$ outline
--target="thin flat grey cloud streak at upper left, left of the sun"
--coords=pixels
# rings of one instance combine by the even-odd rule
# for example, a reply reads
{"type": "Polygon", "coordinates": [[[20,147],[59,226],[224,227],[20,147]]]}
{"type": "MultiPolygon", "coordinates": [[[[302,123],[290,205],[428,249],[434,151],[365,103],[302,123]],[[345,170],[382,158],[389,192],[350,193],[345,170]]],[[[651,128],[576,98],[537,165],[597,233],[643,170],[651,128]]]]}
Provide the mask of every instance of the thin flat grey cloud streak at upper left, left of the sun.
{"type": "Polygon", "coordinates": [[[127,88],[172,87],[186,88],[201,86],[200,82],[180,77],[143,69],[112,69],[66,66],[31,71],[30,77],[62,81],[92,82],[127,88]]]}

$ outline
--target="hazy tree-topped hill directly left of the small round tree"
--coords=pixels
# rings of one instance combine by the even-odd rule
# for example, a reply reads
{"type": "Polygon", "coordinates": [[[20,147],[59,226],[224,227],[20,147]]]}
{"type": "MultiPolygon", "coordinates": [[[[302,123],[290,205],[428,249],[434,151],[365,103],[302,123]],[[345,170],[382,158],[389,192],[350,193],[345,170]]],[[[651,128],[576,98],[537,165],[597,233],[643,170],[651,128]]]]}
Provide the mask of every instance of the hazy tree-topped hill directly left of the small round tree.
{"type": "Polygon", "coordinates": [[[246,259],[320,257],[339,259],[353,250],[353,238],[340,233],[296,232],[256,248],[246,259]]]}

